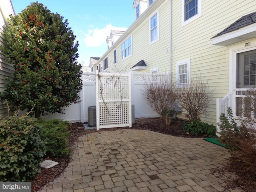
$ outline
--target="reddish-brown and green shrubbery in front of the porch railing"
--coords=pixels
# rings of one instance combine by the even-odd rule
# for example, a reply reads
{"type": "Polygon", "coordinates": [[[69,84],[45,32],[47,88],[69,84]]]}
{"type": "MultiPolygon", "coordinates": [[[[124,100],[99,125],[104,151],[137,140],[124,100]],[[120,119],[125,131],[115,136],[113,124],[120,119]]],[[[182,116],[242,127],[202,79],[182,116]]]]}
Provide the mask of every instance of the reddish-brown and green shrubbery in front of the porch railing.
{"type": "MultiPolygon", "coordinates": [[[[252,118],[251,118],[252,119],[252,118]]],[[[227,117],[220,114],[221,136],[220,143],[226,144],[231,158],[227,164],[228,170],[235,172],[240,177],[244,191],[256,190],[256,130],[245,126],[243,122],[238,126],[237,119],[233,117],[232,109],[228,108],[227,117]]],[[[248,125],[250,118],[247,119],[248,125]]],[[[255,120],[253,120],[255,121],[255,120]]]]}

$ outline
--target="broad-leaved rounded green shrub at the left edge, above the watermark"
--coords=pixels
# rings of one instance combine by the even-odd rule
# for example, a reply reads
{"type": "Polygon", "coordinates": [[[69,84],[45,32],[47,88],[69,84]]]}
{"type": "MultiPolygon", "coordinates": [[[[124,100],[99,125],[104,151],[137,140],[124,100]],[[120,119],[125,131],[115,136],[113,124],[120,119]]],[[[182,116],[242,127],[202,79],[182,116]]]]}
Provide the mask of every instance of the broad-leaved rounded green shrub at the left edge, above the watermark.
{"type": "Polygon", "coordinates": [[[39,132],[33,119],[0,119],[0,181],[29,181],[40,172],[46,146],[39,132]]]}

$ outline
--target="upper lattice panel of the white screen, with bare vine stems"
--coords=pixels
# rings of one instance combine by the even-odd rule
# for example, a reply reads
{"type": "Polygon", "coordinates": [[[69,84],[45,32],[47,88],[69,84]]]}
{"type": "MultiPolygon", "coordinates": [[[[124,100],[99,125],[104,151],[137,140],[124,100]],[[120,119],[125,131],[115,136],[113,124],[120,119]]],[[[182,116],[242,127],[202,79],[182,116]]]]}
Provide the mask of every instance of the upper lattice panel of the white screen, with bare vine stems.
{"type": "Polygon", "coordinates": [[[128,76],[101,76],[99,100],[129,98],[128,76]],[[102,92],[102,93],[101,93],[102,92]]]}

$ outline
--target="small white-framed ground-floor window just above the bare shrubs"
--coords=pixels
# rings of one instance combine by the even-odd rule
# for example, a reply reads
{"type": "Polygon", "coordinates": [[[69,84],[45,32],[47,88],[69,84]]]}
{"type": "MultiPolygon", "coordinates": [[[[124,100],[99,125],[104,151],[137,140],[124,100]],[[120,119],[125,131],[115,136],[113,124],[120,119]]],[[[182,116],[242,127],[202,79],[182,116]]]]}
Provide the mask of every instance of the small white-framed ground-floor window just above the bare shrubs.
{"type": "Polygon", "coordinates": [[[189,86],[190,59],[178,61],[176,63],[177,87],[189,86]]]}

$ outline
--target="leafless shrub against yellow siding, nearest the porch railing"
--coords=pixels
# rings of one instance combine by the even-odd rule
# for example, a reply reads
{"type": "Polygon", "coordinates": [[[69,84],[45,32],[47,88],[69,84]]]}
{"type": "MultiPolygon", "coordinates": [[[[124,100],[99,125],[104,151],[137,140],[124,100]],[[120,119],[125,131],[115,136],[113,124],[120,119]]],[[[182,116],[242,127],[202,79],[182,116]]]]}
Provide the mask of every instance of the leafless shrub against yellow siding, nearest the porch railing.
{"type": "Polygon", "coordinates": [[[208,81],[200,76],[191,79],[189,85],[179,85],[176,88],[180,105],[188,112],[190,122],[200,121],[202,115],[208,112],[213,97],[213,90],[209,90],[208,81]]]}

